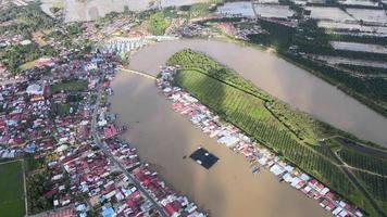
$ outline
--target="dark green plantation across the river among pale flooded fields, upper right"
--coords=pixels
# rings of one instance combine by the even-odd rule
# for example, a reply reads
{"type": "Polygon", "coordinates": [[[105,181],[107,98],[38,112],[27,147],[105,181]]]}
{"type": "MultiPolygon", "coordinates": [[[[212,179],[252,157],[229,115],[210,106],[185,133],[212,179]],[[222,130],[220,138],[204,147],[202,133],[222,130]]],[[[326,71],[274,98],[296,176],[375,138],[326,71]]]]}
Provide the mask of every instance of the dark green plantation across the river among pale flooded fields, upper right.
{"type": "MultiPolygon", "coordinates": [[[[274,48],[277,54],[285,60],[299,65],[300,67],[313,73],[326,81],[337,86],[346,93],[354,97],[359,101],[369,105],[376,112],[387,116],[387,79],[353,76],[340,67],[333,67],[320,62],[309,60],[301,53],[345,56],[353,59],[386,61],[386,54],[339,51],[332,48],[330,40],[373,42],[374,37],[337,36],[319,28],[316,21],[302,21],[297,28],[287,27],[267,21],[259,21],[259,24],[269,34],[252,35],[249,39],[252,43],[264,44],[274,48]],[[289,48],[296,51],[289,51],[289,48]]],[[[382,39],[385,41],[386,39],[382,39]]],[[[378,42],[380,43],[380,42],[378,42]]],[[[360,68],[360,67],[358,67],[360,68]]],[[[360,68],[363,69],[363,68],[360,68]]],[[[376,69],[367,68],[376,74],[376,69]]]]}

